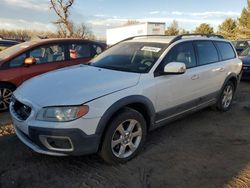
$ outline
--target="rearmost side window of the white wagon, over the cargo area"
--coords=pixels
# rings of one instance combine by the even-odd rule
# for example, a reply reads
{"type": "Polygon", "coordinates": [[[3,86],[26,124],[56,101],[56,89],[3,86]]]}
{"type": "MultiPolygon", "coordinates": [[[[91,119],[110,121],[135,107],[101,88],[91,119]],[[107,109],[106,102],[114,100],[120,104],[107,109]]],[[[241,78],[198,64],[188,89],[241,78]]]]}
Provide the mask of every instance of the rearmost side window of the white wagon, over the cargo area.
{"type": "Polygon", "coordinates": [[[231,44],[228,42],[215,42],[215,44],[220,51],[222,60],[234,59],[236,57],[231,44]]]}

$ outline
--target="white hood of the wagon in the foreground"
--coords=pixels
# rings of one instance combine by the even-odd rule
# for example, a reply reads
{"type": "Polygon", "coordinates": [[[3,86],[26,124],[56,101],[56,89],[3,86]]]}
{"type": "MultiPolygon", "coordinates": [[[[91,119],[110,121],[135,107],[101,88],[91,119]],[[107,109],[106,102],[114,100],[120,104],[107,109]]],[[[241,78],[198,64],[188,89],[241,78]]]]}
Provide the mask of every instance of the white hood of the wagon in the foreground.
{"type": "Polygon", "coordinates": [[[34,77],[14,95],[41,107],[79,105],[135,86],[139,78],[138,73],[79,65],[34,77]]]}

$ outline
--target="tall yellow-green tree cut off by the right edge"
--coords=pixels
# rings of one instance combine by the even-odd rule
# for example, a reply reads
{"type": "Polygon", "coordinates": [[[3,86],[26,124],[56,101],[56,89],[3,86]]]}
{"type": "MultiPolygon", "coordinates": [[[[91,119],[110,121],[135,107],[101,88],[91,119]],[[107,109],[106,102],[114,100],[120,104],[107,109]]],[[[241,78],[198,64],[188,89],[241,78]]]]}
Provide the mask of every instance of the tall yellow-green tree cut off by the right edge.
{"type": "Polygon", "coordinates": [[[238,19],[238,38],[249,38],[250,37],[250,0],[247,0],[247,7],[245,7],[241,16],[238,19]]]}

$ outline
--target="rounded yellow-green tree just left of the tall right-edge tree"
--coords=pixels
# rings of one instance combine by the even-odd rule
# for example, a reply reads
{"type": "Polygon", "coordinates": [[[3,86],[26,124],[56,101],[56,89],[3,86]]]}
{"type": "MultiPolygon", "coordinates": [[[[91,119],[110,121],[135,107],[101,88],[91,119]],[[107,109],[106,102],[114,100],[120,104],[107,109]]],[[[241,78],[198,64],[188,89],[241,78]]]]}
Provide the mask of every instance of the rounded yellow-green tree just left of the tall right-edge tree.
{"type": "Polygon", "coordinates": [[[234,40],[236,39],[236,29],[237,29],[237,22],[232,18],[226,19],[219,25],[218,34],[222,35],[223,37],[234,40]]]}

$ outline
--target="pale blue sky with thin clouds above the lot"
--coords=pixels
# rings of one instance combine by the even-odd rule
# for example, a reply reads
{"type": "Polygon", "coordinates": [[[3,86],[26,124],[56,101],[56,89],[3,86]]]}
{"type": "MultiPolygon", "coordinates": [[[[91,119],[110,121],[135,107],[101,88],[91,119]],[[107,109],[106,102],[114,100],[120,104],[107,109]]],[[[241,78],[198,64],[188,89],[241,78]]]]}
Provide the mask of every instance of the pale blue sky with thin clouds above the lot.
{"type": "MultiPolygon", "coordinates": [[[[71,19],[88,25],[97,38],[127,20],[166,26],[176,20],[186,30],[206,22],[216,30],[226,18],[239,17],[246,4],[247,0],[75,0],[71,19]]],[[[56,31],[49,0],[0,0],[0,5],[0,28],[56,31]]]]}

